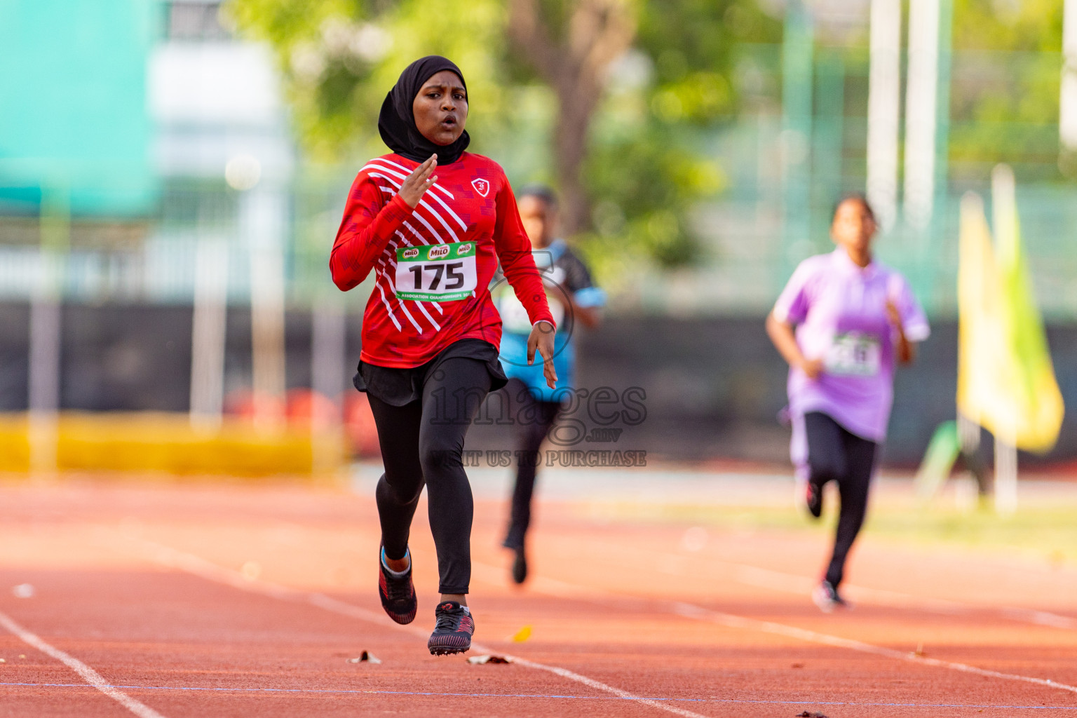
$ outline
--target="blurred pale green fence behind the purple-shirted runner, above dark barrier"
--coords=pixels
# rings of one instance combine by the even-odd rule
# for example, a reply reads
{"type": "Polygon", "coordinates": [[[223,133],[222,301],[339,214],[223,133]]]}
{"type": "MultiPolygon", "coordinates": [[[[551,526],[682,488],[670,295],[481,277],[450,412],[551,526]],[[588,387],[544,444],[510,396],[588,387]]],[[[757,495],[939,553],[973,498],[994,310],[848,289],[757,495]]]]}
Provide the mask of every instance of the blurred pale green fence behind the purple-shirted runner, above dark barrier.
{"type": "MultiPolygon", "coordinates": [[[[643,304],[685,314],[760,313],[793,268],[833,248],[835,201],[866,183],[868,58],[864,48],[816,48],[812,116],[791,129],[781,116],[778,47],[745,53],[738,85],[749,111],[713,137],[728,188],[699,208],[703,263],[648,283],[643,304]],[[754,109],[755,113],[752,113],[754,109]],[[807,137],[806,137],[807,135],[807,137]],[[791,177],[789,153],[806,171],[791,177]],[[788,206],[789,182],[807,201],[788,206]],[[791,225],[797,226],[791,226],[791,225]]],[[[933,315],[956,313],[957,219],[962,195],[990,205],[991,169],[1011,165],[1037,296],[1049,320],[1074,318],[1077,285],[1077,186],[1060,158],[1058,53],[955,52],[951,111],[940,139],[941,175],[933,222],[917,231],[900,217],[879,238],[880,258],[906,272],[933,315]],[[1040,122],[1018,122],[1022,103],[1044,104],[1040,122]],[[1053,104],[1052,104],[1053,103],[1053,104]]],[[[1029,114],[1027,111],[1024,111],[1029,114]]]]}

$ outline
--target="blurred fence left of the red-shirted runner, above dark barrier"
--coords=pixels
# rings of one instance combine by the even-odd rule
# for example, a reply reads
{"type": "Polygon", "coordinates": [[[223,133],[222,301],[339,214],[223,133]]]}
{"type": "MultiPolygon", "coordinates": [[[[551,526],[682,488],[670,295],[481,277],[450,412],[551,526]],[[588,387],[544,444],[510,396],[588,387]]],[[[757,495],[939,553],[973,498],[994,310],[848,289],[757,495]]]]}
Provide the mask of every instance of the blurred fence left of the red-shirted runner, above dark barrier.
{"type": "MultiPolygon", "coordinates": [[[[328,251],[336,234],[350,178],[326,187],[320,181],[293,179],[271,189],[286,217],[278,245],[283,254],[286,295],[308,306],[332,287],[328,251]]],[[[0,298],[28,299],[40,281],[44,225],[62,222],[66,241],[61,294],[67,301],[191,304],[199,240],[226,248],[229,302],[248,301],[251,254],[262,238],[244,236],[246,193],[223,178],[170,179],[164,183],[158,212],[136,223],[70,217],[0,215],[0,298]]],[[[334,288],[335,291],[335,288],[334,288]]]]}

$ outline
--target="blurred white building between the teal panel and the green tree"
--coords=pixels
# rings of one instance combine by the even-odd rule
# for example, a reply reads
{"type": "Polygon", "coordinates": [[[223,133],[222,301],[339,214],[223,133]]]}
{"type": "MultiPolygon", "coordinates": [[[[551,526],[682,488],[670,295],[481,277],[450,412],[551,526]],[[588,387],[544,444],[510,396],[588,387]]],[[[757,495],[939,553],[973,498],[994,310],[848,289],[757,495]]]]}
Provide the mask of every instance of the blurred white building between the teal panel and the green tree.
{"type": "Polygon", "coordinates": [[[282,281],[295,149],[280,79],[268,47],[223,26],[220,2],[171,0],[164,17],[146,80],[164,181],[146,269],[164,281],[146,291],[190,300],[199,238],[215,239],[230,258],[227,294],[246,298],[262,288],[251,286],[252,272],[270,285],[282,281]],[[258,262],[268,264],[254,271],[258,262]]]}

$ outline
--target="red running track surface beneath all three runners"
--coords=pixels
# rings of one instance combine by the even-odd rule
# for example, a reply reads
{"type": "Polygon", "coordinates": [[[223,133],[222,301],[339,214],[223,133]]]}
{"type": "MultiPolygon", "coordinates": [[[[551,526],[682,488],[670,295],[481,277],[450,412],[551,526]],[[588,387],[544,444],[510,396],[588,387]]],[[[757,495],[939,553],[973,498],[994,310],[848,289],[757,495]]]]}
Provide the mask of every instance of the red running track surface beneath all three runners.
{"type": "Polygon", "coordinates": [[[1071,568],[866,540],[857,608],[825,616],[805,593],[816,535],[711,527],[688,550],[683,525],[548,504],[518,590],[503,516],[476,508],[471,604],[480,650],[517,661],[472,665],[426,652],[421,518],[419,618],[398,627],[376,595],[368,497],[9,485],[0,716],[1077,716],[1071,568]],[[382,662],[348,661],[363,650],[382,662]]]}

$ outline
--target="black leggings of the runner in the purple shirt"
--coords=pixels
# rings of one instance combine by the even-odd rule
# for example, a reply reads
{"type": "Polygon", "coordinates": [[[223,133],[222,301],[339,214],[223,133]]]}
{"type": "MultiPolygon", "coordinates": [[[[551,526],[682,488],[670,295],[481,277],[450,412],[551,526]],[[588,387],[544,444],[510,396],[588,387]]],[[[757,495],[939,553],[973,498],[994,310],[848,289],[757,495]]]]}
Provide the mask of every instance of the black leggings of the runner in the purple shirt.
{"type": "Polygon", "coordinates": [[[826,569],[826,580],[837,588],[844,575],[849,549],[864,525],[878,445],[850,433],[820,411],[805,414],[805,433],[808,436],[808,480],[820,488],[827,481],[837,481],[841,494],[834,554],[826,569]]]}

